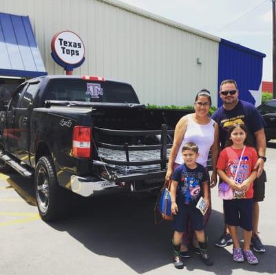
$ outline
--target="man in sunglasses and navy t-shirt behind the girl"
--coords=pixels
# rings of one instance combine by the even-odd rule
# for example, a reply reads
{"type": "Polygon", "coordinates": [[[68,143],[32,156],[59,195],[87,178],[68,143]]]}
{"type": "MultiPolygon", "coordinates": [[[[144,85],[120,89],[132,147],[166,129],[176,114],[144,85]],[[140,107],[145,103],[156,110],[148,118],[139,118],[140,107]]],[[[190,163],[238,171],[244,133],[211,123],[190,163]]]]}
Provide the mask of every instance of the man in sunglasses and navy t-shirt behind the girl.
{"type": "MultiPolygon", "coordinates": [[[[257,169],[257,179],[254,181],[254,209],[253,209],[253,234],[251,243],[253,249],[257,252],[265,252],[264,245],[258,236],[259,224],[259,201],[264,200],[264,183],[266,181],[266,174],[264,172],[264,162],[266,161],[266,136],[264,133],[264,122],[262,115],[249,102],[239,100],[239,90],[235,80],[223,80],[220,85],[220,98],[223,105],[213,113],[212,118],[219,124],[220,127],[220,145],[224,148],[227,131],[233,123],[244,123],[248,129],[248,135],[251,137],[253,144],[257,149],[259,158],[255,165],[257,169]]],[[[231,234],[228,226],[225,224],[224,233],[215,245],[223,248],[228,243],[232,242],[231,234]]]]}

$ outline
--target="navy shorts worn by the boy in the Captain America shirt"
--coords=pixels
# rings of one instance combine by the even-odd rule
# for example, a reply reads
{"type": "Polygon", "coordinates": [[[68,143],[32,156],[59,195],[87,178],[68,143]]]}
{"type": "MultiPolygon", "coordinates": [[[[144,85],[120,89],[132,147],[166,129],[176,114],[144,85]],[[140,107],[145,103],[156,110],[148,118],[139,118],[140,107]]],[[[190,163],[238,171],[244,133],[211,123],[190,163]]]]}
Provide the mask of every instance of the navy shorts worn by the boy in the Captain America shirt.
{"type": "Polygon", "coordinates": [[[195,206],[178,206],[177,214],[173,215],[173,229],[178,232],[186,232],[188,217],[190,218],[193,230],[203,230],[203,216],[195,206]]]}

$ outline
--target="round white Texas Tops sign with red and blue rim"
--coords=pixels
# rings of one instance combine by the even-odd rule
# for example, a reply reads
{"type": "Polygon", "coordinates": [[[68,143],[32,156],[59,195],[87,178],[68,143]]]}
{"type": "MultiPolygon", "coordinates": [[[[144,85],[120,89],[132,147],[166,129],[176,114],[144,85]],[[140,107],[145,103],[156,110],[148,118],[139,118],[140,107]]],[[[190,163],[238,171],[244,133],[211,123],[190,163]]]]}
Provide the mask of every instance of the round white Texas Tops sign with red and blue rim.
{"type": "Polygon", "coordinates": [[[69,30],[54,35],[51,49],[54,61],[64,67],[67,74],[85,61],[85,46],[81,37],[69,30]]]}

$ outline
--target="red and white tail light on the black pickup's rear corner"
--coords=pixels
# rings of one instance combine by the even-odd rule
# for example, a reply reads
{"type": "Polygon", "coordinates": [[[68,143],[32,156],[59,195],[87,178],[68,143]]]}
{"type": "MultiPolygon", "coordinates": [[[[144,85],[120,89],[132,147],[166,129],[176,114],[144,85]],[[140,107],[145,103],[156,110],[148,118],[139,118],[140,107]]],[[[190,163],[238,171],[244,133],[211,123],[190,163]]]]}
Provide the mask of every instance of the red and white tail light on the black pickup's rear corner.
{"type": "Polygon", "coordinates": [[[73,157],[91,157],[91,127],[74,126],[73,157]]]}

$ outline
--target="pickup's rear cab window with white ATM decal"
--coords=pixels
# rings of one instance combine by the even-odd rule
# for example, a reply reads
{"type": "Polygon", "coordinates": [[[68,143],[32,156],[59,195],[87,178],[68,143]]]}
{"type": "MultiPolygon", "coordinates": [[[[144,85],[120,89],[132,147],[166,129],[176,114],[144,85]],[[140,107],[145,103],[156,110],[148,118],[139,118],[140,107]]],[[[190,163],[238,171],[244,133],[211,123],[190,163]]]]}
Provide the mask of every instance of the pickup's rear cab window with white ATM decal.
{"type": "Polygon", "coordinates": [[[131,85],[81,79],[52,80],[45,100],[139,103],[131,85]]]}

